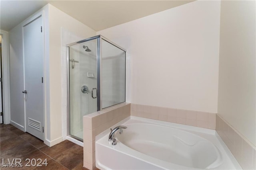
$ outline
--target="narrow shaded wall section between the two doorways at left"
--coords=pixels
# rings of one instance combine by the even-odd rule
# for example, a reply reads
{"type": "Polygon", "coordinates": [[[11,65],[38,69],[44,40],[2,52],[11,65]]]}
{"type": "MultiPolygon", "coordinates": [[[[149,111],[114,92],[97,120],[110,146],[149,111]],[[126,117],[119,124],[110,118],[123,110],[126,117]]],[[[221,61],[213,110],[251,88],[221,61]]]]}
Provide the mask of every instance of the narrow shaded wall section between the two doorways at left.
{"type": "Polygon", "coordinates": [[[22,24],[9,31],[10,42],[10,120],[24,130],[24,80],[22,24]]]}

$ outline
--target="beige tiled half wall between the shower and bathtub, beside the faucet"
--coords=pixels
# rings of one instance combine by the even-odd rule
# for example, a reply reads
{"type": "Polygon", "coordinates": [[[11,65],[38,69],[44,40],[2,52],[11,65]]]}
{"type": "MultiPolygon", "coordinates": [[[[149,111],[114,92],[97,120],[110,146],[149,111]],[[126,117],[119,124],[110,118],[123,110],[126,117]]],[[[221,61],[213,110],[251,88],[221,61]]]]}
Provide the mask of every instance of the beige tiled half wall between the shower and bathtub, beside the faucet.
{"type": "Polygon", "coordinates": [[[111,126],[130,116],[130,104],[125,103],[83,117],[84,167],[95,168],[95,137],[111,126]]]}

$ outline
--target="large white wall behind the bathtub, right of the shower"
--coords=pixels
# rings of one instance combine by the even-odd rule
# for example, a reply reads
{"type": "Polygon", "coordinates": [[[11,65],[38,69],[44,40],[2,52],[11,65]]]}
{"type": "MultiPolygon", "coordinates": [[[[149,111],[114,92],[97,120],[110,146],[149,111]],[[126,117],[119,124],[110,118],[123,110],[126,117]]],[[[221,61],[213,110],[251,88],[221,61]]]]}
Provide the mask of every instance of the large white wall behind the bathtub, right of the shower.
{"type": "Polygon", "coordinates": [[[97,34],[128,50],[132,103],[216,113],[219,30],[220,2],[195,1],[97,34]]]}

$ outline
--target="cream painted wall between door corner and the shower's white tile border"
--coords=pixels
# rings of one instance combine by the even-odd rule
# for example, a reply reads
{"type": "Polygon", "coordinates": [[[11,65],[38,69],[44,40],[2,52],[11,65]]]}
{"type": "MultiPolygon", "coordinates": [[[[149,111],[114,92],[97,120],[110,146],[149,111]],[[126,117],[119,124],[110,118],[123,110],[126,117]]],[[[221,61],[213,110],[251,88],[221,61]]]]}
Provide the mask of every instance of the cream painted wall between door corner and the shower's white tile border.
{"type": "MultiPolygon", "coordinates": [[[[49,82],[50,141],[62,141],[61,27],[80,37],[96,35],[96,31],[49,4],[49,82]]],[[[70,42],[72,43],[72,42],[70,42]]]]}

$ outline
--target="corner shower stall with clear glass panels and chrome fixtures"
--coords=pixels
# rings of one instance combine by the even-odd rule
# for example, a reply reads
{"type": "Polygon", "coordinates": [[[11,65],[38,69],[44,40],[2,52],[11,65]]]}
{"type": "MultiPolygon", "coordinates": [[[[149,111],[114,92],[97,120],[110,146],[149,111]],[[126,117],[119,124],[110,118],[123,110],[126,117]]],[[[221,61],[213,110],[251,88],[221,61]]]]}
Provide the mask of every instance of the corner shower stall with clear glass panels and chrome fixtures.
{"type": "Polygon", "coordinates": [[[126,50],[97,35],[67,45],[68,136],[83,141],[83,116],[125,102],[126,50]]]}

